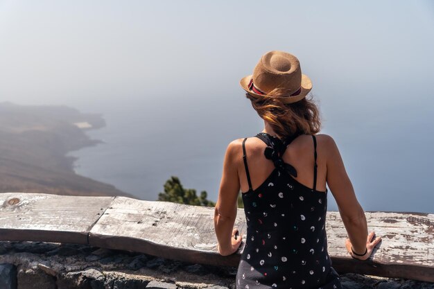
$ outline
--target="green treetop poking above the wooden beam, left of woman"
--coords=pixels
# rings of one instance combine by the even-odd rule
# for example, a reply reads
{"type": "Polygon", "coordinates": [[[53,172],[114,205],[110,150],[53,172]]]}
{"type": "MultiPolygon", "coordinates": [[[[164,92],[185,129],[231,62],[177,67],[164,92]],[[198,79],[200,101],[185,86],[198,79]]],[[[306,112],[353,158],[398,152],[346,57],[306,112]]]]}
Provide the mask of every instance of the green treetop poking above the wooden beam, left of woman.
{"type": "Polygon", "coordinates": [[[184,189],[180,179],[172,176],[164,184],[164,193],[158,194],[158,200],[164,202],[176,202],[178,204],[193,204],[194,206],[214,207],[215,202],[207,200],[207,191],[201,191],[196,195],[195,189],[184,189]]]}

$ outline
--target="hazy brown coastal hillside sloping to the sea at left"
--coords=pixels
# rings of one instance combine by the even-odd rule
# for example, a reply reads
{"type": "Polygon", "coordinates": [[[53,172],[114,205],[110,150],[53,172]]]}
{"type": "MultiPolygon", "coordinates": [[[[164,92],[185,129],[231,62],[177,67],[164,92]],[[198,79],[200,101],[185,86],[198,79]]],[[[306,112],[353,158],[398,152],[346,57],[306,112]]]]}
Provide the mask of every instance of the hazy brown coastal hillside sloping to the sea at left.
{"type": "Polygon", "coordinates": [[[0,192],[125,195],[110,184],[77,175],[67,152],[100,141],[85,130],[102,128],[99,114],[65,106],[0,103],[0,192]]]}

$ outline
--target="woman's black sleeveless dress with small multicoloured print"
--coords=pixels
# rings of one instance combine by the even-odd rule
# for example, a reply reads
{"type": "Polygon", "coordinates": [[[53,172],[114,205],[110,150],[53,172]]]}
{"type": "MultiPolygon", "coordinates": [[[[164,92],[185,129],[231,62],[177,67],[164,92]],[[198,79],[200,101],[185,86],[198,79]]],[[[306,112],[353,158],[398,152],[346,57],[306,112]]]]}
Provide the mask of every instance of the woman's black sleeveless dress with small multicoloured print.
{"type": "Polygon", "coordinates": [[[325,220],[327,190],[316,190],[316,139],[313,189],[297,182],[297,171],[281,159],[292,138],[281,141],[269,134],[256,137],[267,144],[265,155],[275,169],[252,189],[245,139],[243,159],[249,191],[243,193],[247,237],[236,274],[237,289],[342,288],[327,253],[325,220]]]}

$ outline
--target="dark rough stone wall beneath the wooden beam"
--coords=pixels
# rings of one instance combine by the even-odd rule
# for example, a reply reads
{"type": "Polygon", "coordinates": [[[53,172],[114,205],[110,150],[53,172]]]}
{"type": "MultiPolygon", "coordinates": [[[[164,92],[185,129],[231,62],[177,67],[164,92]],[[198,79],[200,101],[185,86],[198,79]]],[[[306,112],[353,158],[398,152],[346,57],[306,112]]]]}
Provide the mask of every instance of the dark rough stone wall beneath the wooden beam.
{"type": "MultiPolygon", "coordinates": [[[[0,242],[0,289],[234,289],[235,267],[86,245],[0,242]]],[[[433,289],[434,283],[342,274],[344,288],[433,289]]]]}

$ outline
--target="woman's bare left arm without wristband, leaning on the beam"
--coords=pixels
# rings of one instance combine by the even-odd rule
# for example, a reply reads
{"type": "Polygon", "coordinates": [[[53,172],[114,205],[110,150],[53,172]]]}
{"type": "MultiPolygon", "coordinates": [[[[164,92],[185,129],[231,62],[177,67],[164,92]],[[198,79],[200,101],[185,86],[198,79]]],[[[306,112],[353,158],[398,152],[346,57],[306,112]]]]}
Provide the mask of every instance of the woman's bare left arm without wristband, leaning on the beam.
{"type": "Polygon", "coordinates": [[[227,256],[241,245],[241,235],[236,238],[234,223],[236,218],[238,192],[240,184],[238,179],[237,157],[241,157],[240,141],[232,141],[227,146],[223,174],[218,192],[218,200],[214,209],[214,229],[218,240],[218,252],[227,256]]]}

